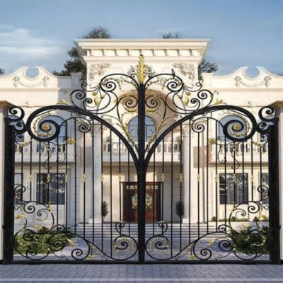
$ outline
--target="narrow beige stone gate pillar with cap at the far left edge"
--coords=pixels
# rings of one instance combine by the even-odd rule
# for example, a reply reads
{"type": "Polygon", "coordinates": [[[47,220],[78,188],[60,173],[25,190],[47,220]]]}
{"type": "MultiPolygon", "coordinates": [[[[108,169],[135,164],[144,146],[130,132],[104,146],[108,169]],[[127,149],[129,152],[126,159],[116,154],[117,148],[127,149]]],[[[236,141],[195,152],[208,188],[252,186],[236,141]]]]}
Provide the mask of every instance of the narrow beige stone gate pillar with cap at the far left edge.
{"type": "Polygon", "coordinates": [[[8,116],[8,108],[13,106],[7,101],[0,101],[0,260],[4,260],[4,253],[6,252],[6,246],[4,246],[4,189],[5,189],[5,117],[8,116]],[[5,250],[4,250],[5,248],[5,250]]]}

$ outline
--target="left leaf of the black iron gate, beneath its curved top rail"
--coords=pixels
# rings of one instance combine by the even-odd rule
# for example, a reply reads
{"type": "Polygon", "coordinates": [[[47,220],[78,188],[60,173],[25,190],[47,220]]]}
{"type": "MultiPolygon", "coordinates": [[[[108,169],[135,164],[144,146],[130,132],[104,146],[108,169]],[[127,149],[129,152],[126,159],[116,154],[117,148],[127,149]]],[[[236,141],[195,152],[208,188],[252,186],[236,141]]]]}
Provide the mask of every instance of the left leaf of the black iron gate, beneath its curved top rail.
{"type": "Polygon", "coordinates": [[[13,260],[137,260],[137,223],[122,219],[133,158],[112,129],[72,114],[36,117],[47,141],[13,133],[13,260]]]}

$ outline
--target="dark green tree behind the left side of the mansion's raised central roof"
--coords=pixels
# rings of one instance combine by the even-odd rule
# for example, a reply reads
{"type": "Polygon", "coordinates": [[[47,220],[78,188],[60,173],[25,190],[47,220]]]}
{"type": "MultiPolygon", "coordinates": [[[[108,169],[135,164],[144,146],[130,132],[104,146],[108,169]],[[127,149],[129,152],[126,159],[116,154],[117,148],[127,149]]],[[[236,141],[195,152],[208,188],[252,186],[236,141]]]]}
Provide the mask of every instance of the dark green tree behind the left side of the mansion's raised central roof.
{"type": "MultiPolygon", "coordinates": [[[[93,28],[89,33],[83,35],[82,38],[110,38],[108,30],[105,28],[93,28]]],[[[68,51],[70,59],[68,59],[64,64],[64,70],[62,71],[53,71],[53,74],[56,76],[71,76],[71,73],[77,73],[81,71],[83,76],[86,76],[86,66],[81,63],[79,58],[79,53],[76,50],[76,47],[72,47],[68,51]]]]}

